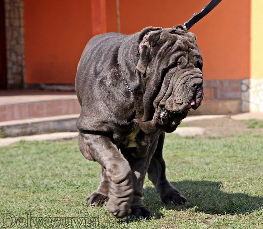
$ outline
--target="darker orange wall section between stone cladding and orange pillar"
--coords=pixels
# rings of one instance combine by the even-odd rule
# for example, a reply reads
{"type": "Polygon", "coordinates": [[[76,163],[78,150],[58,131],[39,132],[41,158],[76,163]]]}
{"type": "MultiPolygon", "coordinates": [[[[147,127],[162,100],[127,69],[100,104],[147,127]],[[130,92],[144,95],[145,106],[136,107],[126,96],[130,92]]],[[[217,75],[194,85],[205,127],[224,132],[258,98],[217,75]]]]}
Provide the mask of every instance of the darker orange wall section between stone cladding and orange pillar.
{"type": "Polygon", "coordinates": [[[27,83],[74,83],[91,38],[89,0],[24,0],[27,83]]]}

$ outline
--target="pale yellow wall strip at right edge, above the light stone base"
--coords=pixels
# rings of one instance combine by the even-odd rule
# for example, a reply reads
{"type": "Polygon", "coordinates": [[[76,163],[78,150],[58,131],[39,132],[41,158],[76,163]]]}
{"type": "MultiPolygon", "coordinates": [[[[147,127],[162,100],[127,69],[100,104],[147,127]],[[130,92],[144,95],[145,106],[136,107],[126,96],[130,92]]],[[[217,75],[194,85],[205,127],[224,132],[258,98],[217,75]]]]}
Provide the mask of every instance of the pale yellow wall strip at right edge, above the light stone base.
{"type": "Polygon", "coordinates": [[[250,77],[263,79],[263,1],[251,0],[250,77]]]}

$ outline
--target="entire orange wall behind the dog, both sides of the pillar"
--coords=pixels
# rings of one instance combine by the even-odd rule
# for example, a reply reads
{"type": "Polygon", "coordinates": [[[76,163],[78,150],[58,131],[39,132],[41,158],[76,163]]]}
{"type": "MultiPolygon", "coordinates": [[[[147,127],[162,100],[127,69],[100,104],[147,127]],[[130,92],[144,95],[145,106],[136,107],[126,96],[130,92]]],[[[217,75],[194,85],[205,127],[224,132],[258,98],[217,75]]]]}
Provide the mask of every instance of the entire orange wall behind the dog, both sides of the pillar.
{"type": "MultiPolygon", "coordinates": [[[[91,1],[98,0],[24,0],[27,83],[74,83],[92,37],[91,1]]],[[[106,2],[107,32],[117,32],[116,1],[99,1],[106,2]]],[[[182,24],[208,2],[119,0],[120,30],[130,34],[146,26],[182,24]]],[[[249,78],[250,0],[222,1],[190,31],[203,54],[206,80],[249,78]]]]}

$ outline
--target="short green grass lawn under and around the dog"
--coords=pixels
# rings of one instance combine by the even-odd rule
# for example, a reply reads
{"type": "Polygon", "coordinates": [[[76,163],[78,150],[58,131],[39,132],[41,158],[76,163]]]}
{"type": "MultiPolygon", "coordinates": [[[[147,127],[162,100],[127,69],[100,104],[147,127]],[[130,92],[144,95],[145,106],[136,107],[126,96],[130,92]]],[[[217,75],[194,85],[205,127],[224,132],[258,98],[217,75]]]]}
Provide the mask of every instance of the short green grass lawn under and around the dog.
{"type": "MultiPolygon", "coordinates": [[[[126,227],[263,228],[262,153],[262,133],[218,139],[167,134],[166,174],[189,203],[163,206],[146,178],[144,203],[154,217],[128,221],[126,227]]],[[[97,217],[99,227],[106,227],[107,208],[84,203],[97,189],[99,172],[97,162],[82,156],[77,140],[22,141],[0,147],[0,212],[25,218],[28,211],[32,217],[74,217],[88,212],[89,219],[97,217]]]]}

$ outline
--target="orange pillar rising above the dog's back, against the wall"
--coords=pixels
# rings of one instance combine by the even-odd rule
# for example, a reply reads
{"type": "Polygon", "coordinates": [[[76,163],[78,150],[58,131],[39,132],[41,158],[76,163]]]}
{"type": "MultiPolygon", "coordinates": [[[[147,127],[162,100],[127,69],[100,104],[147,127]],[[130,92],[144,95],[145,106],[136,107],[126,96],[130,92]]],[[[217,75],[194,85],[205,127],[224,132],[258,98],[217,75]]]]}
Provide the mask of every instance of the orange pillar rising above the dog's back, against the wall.
{"type": "Polygon", "coordinates": [[[92,36],[107,32],[106,0],[91,0],[92,36]]]}

